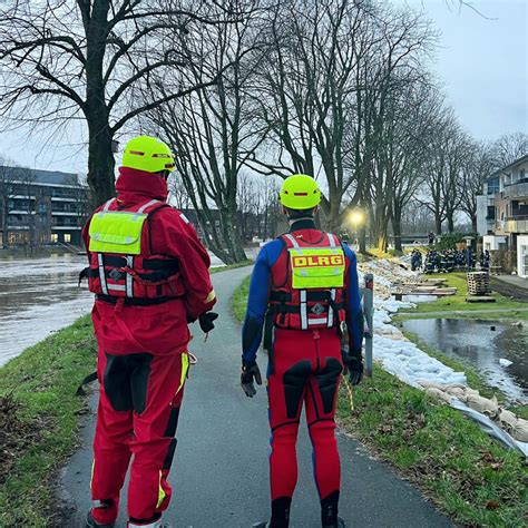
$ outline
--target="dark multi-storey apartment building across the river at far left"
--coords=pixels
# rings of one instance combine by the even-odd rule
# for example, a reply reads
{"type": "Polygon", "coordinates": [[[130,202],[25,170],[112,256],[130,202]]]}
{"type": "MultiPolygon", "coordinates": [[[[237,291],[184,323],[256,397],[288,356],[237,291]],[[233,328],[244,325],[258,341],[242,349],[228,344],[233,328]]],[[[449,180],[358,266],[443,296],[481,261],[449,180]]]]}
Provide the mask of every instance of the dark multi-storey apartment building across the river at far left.
{"type": "Polygon", "coordinates": [[[3,245],[80,245],[89,214],[76,174],[0,166],[0,242],[3,245]]]}

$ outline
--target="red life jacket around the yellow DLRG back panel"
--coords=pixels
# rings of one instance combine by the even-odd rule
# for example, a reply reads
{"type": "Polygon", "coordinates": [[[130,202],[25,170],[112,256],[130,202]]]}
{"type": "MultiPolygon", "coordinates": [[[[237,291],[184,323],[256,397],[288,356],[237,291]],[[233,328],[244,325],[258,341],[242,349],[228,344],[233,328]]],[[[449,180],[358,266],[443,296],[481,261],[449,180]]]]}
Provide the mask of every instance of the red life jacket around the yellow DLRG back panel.
{"type": "MultiPolygon", "coordinates": [[[[284,258],[278,258],[272,267],[272,286],[270,292],[268,317],[276,326],[284,329],[309,330],[339,326],[345,319],[344,311],[344,253],[339,238],[322,232],[319,243],[310,243],[289,233],[281,236],[289,252],[286,266],[284,258]],[[343,258],[343,282],[341,287],[303,287],[293,286],[292,250],[297,254],[302,250],[332,248],[343,258]]],[[[297,257],[299,258],[299,257],[297,257]]],[[[307,257],[310,260],[310,257],[307,257]]],[[[305,281],[310,283],[310,281],[305,281]]]]}

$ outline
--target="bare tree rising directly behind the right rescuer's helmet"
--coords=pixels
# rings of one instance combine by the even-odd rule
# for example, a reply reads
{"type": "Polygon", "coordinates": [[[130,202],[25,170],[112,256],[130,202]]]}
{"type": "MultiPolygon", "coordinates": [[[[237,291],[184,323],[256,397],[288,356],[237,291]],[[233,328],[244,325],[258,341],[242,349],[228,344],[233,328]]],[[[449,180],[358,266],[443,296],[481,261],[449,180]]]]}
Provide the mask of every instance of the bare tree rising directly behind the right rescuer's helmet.
{"type": "Polygon", "coordinates": [[[366,199],[394,76],[415,68],[434,36],[420,16],[350,0],[282,2],[270,32],[258,101],[271,135],[251,166],[321,175],[327,228],[339,231],[366,199]]]}

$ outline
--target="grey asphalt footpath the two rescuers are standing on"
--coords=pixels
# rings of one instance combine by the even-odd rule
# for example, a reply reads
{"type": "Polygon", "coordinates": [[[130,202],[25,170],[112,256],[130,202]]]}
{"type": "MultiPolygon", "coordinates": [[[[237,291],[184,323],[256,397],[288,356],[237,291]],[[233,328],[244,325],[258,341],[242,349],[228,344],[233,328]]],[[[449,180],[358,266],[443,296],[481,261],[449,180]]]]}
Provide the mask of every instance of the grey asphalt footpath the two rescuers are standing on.
{"type": "MultiPolygon", "coordinates": [[[[250,267],[213,275],[221,314],[204,343],[195,325],[189,349],[198,356],[179,418],[178,447],[169,481],[173,500],[164,516],[177,528],[248,528],[270,516],[267,403],[265,389],[248,399],[239,388],[241,327],[231,296],[250,267]]],[[[261,353],[261,370],[266,359],[261,353]]],[[[97,394],[90,404],[95,409],[97,394]]],[[[82,527],[90,508],[89,480],[95,417],[82,426],[82,444],[60,477],[63,526],[82,527]]],[[[348,527],[451,527],[448,518],[360,443],[338,433],[342,489],[340,515],[348,527]]],[[[302,424],[297,446],[299,483],[291,527],[319,527],[319,498],[312,478],[312,449],[302,424]]],[[[126,493],[117,527],[126,526],[126,493]]]]}

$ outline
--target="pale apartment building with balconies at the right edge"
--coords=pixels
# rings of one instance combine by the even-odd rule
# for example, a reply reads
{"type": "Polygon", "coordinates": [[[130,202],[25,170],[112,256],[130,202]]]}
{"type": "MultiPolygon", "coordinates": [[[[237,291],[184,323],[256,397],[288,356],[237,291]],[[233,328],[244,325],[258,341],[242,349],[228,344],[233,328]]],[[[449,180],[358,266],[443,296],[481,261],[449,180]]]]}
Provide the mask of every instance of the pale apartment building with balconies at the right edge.
{"type": "Polygon", "coordinates": [[[528,155],[493,173],[478,196],[483,248],[517,252],[517,273],[528,277],[528,155]]]}

